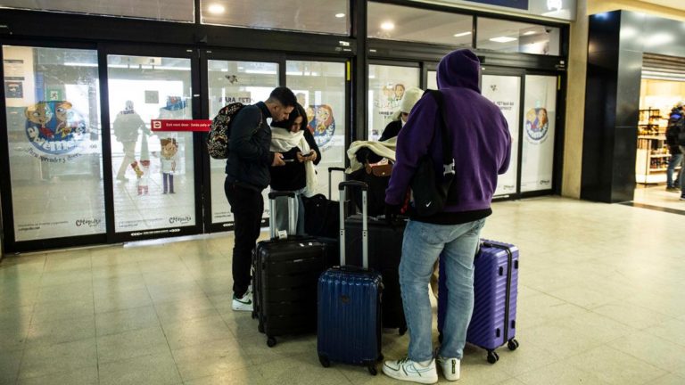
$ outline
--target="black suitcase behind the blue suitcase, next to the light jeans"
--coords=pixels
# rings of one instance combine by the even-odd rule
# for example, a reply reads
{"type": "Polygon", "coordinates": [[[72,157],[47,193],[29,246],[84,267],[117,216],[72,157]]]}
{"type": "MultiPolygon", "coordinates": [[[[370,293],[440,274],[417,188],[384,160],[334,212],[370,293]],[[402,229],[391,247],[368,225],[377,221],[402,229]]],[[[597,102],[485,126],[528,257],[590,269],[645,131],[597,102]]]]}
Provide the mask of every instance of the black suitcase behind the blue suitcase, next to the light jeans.
{"type": "MultiPolygon", "coordinates": [[[[353,215],[345,220],[349,229],[345,241],[348,260],[355,266],[361,264],[361,218],[353,215]]],[[[405,219],[398,219],[389,225],[384,217],[368,217],[368,237],[373,240],[368,245],[368,266],[383,275],[383,327],[397,328],[400,335],[407,332],[400,292],[400,258],[406,225],[405,219]]]]}

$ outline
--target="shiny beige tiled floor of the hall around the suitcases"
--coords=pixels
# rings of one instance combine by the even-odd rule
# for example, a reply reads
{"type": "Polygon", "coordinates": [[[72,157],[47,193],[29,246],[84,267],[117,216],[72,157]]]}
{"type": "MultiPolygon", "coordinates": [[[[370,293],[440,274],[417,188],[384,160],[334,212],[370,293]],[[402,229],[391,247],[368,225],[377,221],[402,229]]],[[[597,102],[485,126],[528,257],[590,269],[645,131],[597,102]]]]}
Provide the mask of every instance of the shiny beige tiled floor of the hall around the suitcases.
{"type": "MultiPolygon", "coordinates": [[[[560,198],[494,210],[483,235],[521,249],[521,347],[496,365],[466,348],[458,383],[685,383],[685,217],[560,198]]],[[[226,234],[5,258],[0,383],[394,383],[321,367],[313,335],[268,348],[230,309],[231,245],[226,234]]],[[[385,356],[407,345],[384,333],[385,356]]]]}

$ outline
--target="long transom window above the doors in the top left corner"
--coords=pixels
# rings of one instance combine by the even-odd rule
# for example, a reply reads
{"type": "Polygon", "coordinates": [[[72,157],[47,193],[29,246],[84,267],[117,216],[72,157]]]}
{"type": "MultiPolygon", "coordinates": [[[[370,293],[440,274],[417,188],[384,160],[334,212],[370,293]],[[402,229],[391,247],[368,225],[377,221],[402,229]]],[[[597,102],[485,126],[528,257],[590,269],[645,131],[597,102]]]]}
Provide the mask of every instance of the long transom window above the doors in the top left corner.
{"type": "Polygon", "coordinates": [[[34,9],[38,11],[74,12],[95,15],[122,16],[154,20],[194,21],[193,0],[136,1],[27,1],[0,0],[0,7],[34,9]]]}

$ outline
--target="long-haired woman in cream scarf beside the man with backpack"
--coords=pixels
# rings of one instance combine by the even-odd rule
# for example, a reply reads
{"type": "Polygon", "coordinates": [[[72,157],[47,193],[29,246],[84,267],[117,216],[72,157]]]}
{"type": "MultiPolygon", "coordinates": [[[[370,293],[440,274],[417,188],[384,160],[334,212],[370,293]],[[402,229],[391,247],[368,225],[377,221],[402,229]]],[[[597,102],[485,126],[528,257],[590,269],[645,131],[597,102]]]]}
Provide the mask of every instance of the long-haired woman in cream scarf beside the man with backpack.
{"type": "MultiPolygon", "coordinates": [[[[271,191],[294,192],[297,204],[295,218],[297,234],[304,233],[304,203],[302,195],[311,196],[317,187],[315,165],[321,161],[314,135],[307,129],[307,113],[297,104],[287,120],[271,124],[271,151],[283,153],[285,166],[271,167],[271,191]]],[[[288,230],[288,198],[276,198],[276,229],[288,230]]],[[[271,213],[273,215],[273,213],[271,213]]]]}

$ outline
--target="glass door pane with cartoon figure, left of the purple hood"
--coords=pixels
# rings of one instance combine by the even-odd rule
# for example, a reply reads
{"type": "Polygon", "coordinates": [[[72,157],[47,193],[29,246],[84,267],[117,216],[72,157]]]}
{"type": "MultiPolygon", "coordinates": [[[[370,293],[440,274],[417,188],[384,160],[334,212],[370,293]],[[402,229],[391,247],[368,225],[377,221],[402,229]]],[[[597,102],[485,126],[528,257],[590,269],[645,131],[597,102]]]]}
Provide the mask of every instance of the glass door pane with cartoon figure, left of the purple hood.
{"type": "Polygon", "coordinates": [[[368,140],[377,140],[400,108],[404,90],[418,86],[418,68],[368,66],[368,140]]]}

